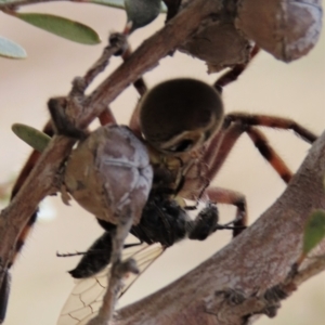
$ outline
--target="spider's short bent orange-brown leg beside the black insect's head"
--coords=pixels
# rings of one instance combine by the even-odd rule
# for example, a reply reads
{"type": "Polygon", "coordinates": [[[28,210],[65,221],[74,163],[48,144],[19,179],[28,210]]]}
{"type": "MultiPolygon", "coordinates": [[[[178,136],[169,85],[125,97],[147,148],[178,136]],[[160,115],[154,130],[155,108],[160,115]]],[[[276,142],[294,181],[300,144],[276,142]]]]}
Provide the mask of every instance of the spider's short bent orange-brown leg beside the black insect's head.
{"type": "Polygon", "coordinates": [[[233,205],[237,208],[235,221],[232,222],[234,225],[234,237],[246,229],[248,223],[247,205],[246,198],[242,193],[221,187],[208,187],[204,195],[207,195],[209,200],[217,204],[233,205]]]}

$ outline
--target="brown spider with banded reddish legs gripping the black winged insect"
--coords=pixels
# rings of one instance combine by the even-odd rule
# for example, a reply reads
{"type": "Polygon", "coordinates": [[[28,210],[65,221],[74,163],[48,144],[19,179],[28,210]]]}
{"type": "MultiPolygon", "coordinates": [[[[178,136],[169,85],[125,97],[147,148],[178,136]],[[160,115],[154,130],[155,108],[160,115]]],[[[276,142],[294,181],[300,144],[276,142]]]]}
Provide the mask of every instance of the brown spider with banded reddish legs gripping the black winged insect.
{"type": "MultiPolygon", "coordinates": [[[[255,48],[251,52],[251,57],[257,52],[258,49],[255,48]]],[[[247,64],[236,65],[216,81],[213,84],[213,93],[217,98],[220,98],[222,87],[234,81],[246,66],[247,64]]],[[[191,79],[185,79],[183,81],[188,83],[193,82],[191,79]]],[[[183,81],[179,80],[181,83],[183,83],[183,81]]],[[[166,191],[166,195],[170,199],[180,197],[195,202],[204,199],[216,204],[221,203],[234,205],[237,208],[236,222],[234,223],[234,225],[237,226],[234,230],[234,235],[236,235],[243,230],[243,225],[247,225],[247,209],[244,195],[225,188],[208,186],[209,182],[213,180],[225,161],[236,140],[246,132],[262,156],[271,164],[280,177],[288,183],[292,177],[291,171],[275,151],[268,144],[263,133],[256,127],[262,126],[278,129],[291,129],[309,143],[315,141],[316,135],[295,121],[281,117],[249,115],[245,113],[227,114],[223,116],[221,101],[218,105],[212,105],[213,108],[206,109],[205,114],[207,114],[208,117],[203,118],[202,129],[197,132],[197,120],[195,115],[202,109],[197,106],[178,106],[181,109],[178,112],[177,119],[173,119],[173,121],[177,122],[172,122],[172,120],[168,118],[166,107],[173,112],[174,104],[168,103],[165,105],[165,99],[172,100],[177,96],[184,98],[188,93],[186,87],[182,89],[183,93],[178,88],[170,88],[170,82],[171,81],[167,81],[166,83],[162,83],[162,88],[165,88],[165,90],[162,89],[162,94],[160,93],[160,98],[158,99],[158,101],[161,100],[159,103],[162,105],[148,105],[147,109],[142,110],[145,101],[148,101],[151,94],[153,94],[150,92],[147,95],[143,96],[143,100],[140,101],[130,121],[130,129],[139,138],[142,138],[143,134],[145,138],[143,141],[150,148],[151,162],[154,167],[155,174],[153,191],[164,192],[169,190],[166,191]],[[174,95],[171,95],[172,91],[174,91],[174,95]],[[192,118],[190,118],[191,114],[192,118]],[[141,116],[143,118],[141,118],[141,116]],[[153,127],[151,122],[153,116],[155,116],[158,120],[158,125],[156,125],[156,127],[153,127]],[[211,118],[214,118],[212,123],[211,118]],[[181,131],[178,129],[179,121],[181,120],[188,122],[186,126],[188,129],[185,128],[185,130],[183,129],[181,131]],[[162,135],[160,136],[159,134],[162,135]],[[166,138],[164,138],[164,134],[169,136],[167,141],[166,138]],[[202,136],[202,134],[205,135],[202,136]],[[161,183],[159,184],[159,181],[162,182],[162,185],[161,183]]],[[[142,79],[138,80],[135,84],[140,86],[141,93],[145,92],[142,79]]],[[[209,90],[212,89],[206,84],[205,87],[209,90]]],[[[152,102],[156,102],[154,96],[152,102]]],[[[107,122],[116,122],[114,115],[109,109],[100,116],[100,120],[103,125],[107,122]]],[[[47,125],[44,131],[50,135],[53,134],[51,123],[47,125]]],[[[12,197],[22,186],[26,176],[30,172],[35,161],[38,159],[38,156],[39,154],[34,152],[29,157],[13,188],[12,197]]],[[[15,247],[17,252],[23,246],[35,220],[36,213],[30,217],[28,224],[22,232],[15,247]]],[[[11,264],[13,262],[14,259],[11,264]]]]}

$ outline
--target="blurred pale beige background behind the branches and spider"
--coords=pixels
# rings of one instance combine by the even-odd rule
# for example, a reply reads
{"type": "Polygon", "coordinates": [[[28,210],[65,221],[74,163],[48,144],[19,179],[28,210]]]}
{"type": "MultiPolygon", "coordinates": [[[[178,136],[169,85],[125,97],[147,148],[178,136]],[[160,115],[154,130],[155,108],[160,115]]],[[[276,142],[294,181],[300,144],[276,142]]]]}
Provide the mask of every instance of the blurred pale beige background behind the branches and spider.
{"type": "MultiPolygon", "coordinates": [[[[47,101],[65,95],[75,76],[99,57],[108,31],[121,30],[126,22],[123,11],[82,3],[48,3],[24,8],[28,12],[48,12],[82,22],[99,31],[103,43],[80,46],[27,25],[0,13],[3,37],[22,44],[28,58],[0,58],[0,160],[1,183],[13,180],[30,148],[11,131],[11,125],[22,122],[41,129],[49,118],[47,101]]],[[[164,24],[159,16],[150,26],[131,36],[136,48],[164,24]]],[[[120,64],[114,57],[98,84],[120,64]]],[[[161,60],[159,66],[144,77],[150,87],[174,77],[193,77],[212,82],[218,75],[207,75],[203,62],[176,53],[161,60]]],[[[128,88],[112,107],[120,123],[128,123],[139,96],[128,88]]],[[[285,64],[261,53],[239,80],[223,93],[226,112],[243,110],[294,118],[320,134],[325,126],[325,37],[301,60],[285,64]]],[[[93,128],[95,125],[92,126],[93,128]]],[[[297,170],[308,153],[309,145],[291,132],[265,130],[271,144],[287,164],[297,170]]],[[[218,186],[242,192],[247,197],[249,220],[253,222],[282,194],[285,184],[263,160],[246,135],[238,141],[220,174],[213,181],[218,186]]],[[[221,222],[233,219],[235,209],[220,206],[221,222]]],[[[61,308],[74,283],[66,273],[78,258],[57,258],[56,251],[74,252],[87,249],[102,234],[94,218],[75,203],[65,206],[60,196],[47,198],[41,207],[41,220],[36,224],[23,253],[12,270],[13,281],[6,325],[55,324],[61,308]]],[[[122,307],[165,286],[186,273],[226,245],[230,233],[217,233],[204,243],[184,240],[168,249],[139,282],[123,296],[122,307]]],[[[259,325],[324,324],[325,274],[303,284],[287,301],[274,320],[265,316],[259,325]]]]}

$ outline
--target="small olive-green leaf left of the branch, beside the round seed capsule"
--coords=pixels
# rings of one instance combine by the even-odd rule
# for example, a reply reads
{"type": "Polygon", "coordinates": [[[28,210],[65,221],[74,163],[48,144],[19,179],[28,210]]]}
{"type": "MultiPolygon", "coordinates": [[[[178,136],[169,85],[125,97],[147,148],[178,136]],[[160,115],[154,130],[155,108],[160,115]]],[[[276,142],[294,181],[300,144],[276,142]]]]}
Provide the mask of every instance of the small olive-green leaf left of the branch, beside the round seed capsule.
{"type": "Polygon", "coordinates": [[[51,141],[51,138],[46,133],[26,125],[14,123],[11,129],[20,139],[40,153],[46,150],[51,141]]]}

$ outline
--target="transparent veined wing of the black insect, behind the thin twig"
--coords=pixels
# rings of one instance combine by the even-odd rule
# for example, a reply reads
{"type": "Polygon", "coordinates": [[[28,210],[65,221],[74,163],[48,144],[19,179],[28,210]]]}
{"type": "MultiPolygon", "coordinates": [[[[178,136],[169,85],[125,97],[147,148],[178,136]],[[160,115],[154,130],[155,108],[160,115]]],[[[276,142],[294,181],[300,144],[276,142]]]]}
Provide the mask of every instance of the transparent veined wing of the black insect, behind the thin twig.
{"type": "MultiPolygon", "coordinates": [[[[142,244],[123,250],[122,259],[133,258],[136,261],[140,273],[130,274],[119,295],[121,297],[135,280],[164,252],[160,244],[142,244]]],[[[76,280],[70,296],[66,300],[57,325],[83,325],[93,318],[101,306],[108,284],[110,264],[94,276],[76,280]]]]}

